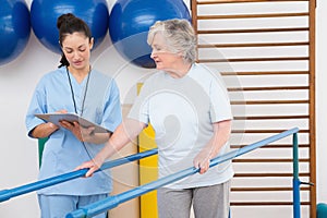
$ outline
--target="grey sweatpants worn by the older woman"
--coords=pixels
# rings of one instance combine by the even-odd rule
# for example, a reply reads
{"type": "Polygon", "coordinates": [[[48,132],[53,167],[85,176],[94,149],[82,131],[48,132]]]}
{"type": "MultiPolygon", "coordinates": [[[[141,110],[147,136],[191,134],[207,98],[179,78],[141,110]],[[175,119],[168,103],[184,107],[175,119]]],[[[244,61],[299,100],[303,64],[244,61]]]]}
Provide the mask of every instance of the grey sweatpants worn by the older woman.
{"type": "Polygon", "coordinates": [[[159,218],[190,218],[193,204],[195,218],[228,218],[230,181],[222,184],[157,191],[159,218]]]}

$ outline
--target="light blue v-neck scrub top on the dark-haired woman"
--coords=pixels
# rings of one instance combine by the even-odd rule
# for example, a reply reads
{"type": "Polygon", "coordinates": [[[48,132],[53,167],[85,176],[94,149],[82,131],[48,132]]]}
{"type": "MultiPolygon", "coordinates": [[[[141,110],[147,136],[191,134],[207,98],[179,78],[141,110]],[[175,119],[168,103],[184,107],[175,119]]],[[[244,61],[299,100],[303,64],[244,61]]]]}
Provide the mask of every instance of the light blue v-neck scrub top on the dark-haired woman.
{"type": "MultiPolygon", "coordinates": [[[[69,73],[76,101],[77,113],[81,114],[83,99],[83,118],[90,120],[113,132],[122,121],[119,89],[112,77],[92,70],[87,85],[87,76],[78,84],[69,73]],[[84,97],[85,96],[85,97],[84,97]]],[[[75,112],[72,90],[65,66],[44,75],[37,84],[27,114],[26,128],[31,131],[45,121],[35,113],[49,113],[65,109],[75,112]]],[[[71,172],[82,162],[92,159],[104,145],[82,143],[68,130],[61,128],[53,132],[47,141],[39,180],[71,172]]],[[[109,193],[112,190],[110,171],[95,173],[92,178],[80,178],[38,191],[39,194],[93,195],[109,193]]]]}

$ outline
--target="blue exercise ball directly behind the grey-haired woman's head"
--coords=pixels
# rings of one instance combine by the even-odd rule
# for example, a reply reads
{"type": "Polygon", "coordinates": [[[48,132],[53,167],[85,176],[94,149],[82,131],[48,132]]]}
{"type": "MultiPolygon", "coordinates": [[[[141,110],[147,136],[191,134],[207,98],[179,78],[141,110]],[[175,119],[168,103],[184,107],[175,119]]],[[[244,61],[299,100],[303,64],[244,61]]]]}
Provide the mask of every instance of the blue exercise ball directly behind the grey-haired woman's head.
{"type": "Polygon", "coordinates": [[[185,19],[191,15],[183,0],[118,0],[109,17],[109,35],[116,50],[141,68],[155,68],[146,43],[156,21],[185,19]]]}

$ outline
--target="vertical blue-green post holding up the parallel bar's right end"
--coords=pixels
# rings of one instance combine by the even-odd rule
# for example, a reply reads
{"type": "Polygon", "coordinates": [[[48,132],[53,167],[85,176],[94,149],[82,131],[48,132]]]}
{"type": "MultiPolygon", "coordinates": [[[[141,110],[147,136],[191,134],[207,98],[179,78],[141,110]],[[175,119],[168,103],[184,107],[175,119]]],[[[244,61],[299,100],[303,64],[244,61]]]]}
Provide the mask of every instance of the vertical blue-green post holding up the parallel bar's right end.
{"type": "Polygon", "coordinates": [[[293,134],[293,218],[301,217],[298,133],[293,134]]]}

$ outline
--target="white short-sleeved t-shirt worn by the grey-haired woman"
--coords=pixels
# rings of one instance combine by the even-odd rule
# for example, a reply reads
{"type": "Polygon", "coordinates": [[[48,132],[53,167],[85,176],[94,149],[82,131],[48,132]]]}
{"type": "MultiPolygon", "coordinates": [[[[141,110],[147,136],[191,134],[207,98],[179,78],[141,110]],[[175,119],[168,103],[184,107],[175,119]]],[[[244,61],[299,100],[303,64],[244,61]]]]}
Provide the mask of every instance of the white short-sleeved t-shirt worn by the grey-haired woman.
{"type": "MultiPolygon", "coordinates": [[[[190,72],[173,78],[160,71],[144,83],[129,118],[150,123],[156,133],[159,178],[193,166],[194,157],[213,137],[213,123],[231,120],[231,107],[219,75],[194,63],[190,72]]],[[[229,150],[227,143],[220,150],[229,150]]],[[[187,189],[219,184],[233,177],[231,161],[167,185],[187,189]]]]}

